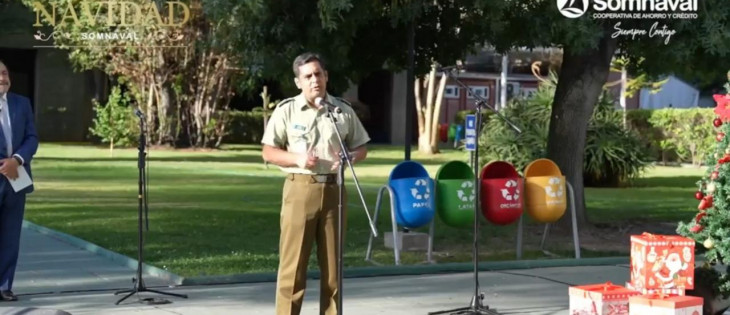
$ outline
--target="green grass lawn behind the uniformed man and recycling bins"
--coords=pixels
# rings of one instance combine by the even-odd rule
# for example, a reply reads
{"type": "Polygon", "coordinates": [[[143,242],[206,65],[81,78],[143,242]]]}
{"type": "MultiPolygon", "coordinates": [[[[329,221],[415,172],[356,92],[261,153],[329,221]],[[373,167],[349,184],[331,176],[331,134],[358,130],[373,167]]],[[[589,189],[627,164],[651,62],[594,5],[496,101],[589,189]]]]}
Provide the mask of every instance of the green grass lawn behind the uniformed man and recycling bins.
{"type": "MultiPolygon", "coordinates": [[[[402,159],[401,150],[373,147],[368,160],[356,167],[371,212],[378,188],[402,159]]],[[[137,150],[114,153],[112,158],[105,148],[43,143],[33,162],[36,192],[28,198],[26,219],[136,257],[137,150]]],[[[468,159],[458,151],[435,157],[413,152],[412,158],[422,162],[431,176],[445,161],[468,159]]],[[[702,174],[696,168],[657,167],[638,180],[635,188],[588,189],[589,217],[596,222],[686,219],[696,211],[694,183],[702,174]]],[[[369,228],[349,171],[347,177],[350,208],[345,264],[366,266],[370,264],[363,261],[369,228]]],[[[183,276],[274,271],[282,184],[277,167],[264,167],[258,146],[197,152],[152,150],[145,261],[183,276]]],[[[386,210],[383,207],[378,222],[381,234],[390,228],[386,210]]],[[[436,259],[471,261],[471,230],[437,222],[436,259]]],[[[486,225],[480,235],[480,259],[513,259],[514,231],[514,226],[486,225]]],[[[537,243],[526,237],[527,242],[537,243]]],[[[392,264],[392,251],[384,248],[382,238],[375,244],[375,260],[392,264]]],[[[525,257],[545,257],[533,247],[526,247],[525,257]]],[[[586,252],[584,256],[605,254],[586,252]]],[[[310,269],[316,269],[315,256],[310,269]]],[[[422,263],[425,254],[404,253],[402,259],[422,263]]]]}

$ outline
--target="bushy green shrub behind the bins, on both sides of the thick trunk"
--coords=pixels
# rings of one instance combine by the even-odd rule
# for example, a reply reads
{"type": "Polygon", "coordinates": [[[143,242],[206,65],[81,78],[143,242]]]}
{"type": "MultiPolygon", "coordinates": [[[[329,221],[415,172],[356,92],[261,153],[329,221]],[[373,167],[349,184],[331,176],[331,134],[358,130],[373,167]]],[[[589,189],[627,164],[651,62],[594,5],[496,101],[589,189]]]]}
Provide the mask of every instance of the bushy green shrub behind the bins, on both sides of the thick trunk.
{"type": "MultiPolygon", "coordinates": [[[[528,163],[545,156],[553,107],[554,72],[543,79],[531,98],[515,98],[502,114],[523,124],[516,134],[502,119],[492,116],[482,131],[479,154],[482,164],[504,160],[524,169],[528,163]]],[[[621,115],[603,91],[588,124],[584,151],[583,176],[591,186],[619,186],[637,177],[646,168],[646,152],[638,136],[622,127],[621,115]]]]}

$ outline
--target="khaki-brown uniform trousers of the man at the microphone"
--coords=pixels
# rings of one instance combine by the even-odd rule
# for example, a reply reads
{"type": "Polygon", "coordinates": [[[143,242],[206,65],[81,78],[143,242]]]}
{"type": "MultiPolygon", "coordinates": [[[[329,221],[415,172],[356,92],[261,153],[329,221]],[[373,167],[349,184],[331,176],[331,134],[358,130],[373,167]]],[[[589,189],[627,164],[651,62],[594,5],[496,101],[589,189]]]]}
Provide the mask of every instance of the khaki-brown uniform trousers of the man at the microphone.
{"type": "Polygon", "coordinates": [[[297,315],[301,311],[307,263],[315,240],[320,269],[319,313],[337,315],[338,194],[336,174],[287,175],[280,218],[277,315],[297,315]]]}

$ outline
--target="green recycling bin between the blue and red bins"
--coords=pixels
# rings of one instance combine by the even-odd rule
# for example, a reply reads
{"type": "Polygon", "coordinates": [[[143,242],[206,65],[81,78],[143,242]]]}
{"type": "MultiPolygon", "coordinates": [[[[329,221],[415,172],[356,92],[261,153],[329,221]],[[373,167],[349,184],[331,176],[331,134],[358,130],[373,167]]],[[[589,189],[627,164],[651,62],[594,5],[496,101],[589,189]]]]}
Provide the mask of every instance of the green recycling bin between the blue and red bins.
{"type": "Polygon", "coordinates": [[[461,161],[451,161],[436,173],[436,211],[452,227],[474,223],[474,171],[461,161]]]}

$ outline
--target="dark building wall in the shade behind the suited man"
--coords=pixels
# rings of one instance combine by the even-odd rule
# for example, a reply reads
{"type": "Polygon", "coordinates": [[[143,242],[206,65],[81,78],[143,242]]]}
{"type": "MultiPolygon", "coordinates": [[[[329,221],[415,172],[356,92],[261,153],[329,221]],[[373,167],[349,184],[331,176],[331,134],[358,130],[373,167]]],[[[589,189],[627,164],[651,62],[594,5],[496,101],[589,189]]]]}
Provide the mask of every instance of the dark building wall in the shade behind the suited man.
{"type": "Polygon", "coordinates": [[[88,141],[91,100],[106,95],[106,76],[76,72],[67,51],[38,47],[34,21],[19,3],[0,5],[0,59],[10,70],[10,91],[31,100],[41,141],[88,141]]]}

